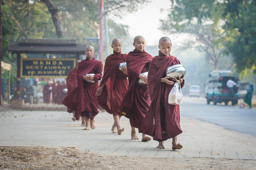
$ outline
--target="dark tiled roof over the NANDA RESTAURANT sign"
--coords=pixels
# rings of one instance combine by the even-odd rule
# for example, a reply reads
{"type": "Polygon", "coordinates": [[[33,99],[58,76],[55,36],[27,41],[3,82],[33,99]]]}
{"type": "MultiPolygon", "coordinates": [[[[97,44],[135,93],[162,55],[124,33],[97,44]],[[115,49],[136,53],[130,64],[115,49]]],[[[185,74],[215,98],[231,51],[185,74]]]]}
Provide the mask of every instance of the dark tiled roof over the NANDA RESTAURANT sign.
{"type": "Polygon", "coordinates": [[[77,44],[76,39],[21,39],[10,43],[12,53],[84,54],[87,44],[77,44]]]}

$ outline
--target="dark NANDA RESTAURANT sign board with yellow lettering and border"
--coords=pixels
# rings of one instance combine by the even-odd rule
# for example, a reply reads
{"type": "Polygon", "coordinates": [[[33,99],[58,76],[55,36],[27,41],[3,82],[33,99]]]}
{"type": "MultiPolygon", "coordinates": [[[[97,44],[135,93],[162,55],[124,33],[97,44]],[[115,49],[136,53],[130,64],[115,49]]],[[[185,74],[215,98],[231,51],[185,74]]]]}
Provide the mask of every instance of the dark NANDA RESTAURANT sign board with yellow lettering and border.
{"type": "Polygon", "coordinates": [[[75,59],[21,59],[21,77],[62,77],[75,68],[75,59]]]}

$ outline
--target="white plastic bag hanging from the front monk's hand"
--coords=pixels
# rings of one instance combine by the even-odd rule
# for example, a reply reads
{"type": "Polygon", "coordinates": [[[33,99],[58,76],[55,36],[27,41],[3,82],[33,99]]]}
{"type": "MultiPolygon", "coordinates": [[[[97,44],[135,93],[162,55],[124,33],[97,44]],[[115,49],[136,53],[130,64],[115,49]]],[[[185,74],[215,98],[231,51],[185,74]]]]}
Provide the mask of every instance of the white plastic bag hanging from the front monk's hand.
{"type": "MultiPolygon", "coordinates": [[[[179,81],[179,80],[178,80],[179,81]]],[[[168,96],[168,103],[173,105],[181,105],[182,104],[183,95],[181,92],[181,84],[180,82],[176,82],[171,89],[171,92],[168,96]]]]}

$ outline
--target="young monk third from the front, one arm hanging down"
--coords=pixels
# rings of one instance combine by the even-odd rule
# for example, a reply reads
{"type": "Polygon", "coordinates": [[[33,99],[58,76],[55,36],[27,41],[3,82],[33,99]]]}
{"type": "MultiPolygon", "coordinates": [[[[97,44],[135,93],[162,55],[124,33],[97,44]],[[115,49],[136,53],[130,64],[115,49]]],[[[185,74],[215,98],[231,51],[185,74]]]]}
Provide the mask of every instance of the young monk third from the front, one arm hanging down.
{"type": "Polygon", "coordinates": [[[111,47],[114,53],[106,58],[104,66],[104,75],[100,87],[96,92],[100,106],[108,113],[113,114],[114,124],[112,132],[122,134],[124,128],[121,128],[119,120],[121,112],[119,107],[122,103],[125,92],[128,89],[127,69],[126,66],[119,70],[119,64],[126,62],[127,54],[122,54],[122,42],[119,38],[112,41],[111,47]]]}

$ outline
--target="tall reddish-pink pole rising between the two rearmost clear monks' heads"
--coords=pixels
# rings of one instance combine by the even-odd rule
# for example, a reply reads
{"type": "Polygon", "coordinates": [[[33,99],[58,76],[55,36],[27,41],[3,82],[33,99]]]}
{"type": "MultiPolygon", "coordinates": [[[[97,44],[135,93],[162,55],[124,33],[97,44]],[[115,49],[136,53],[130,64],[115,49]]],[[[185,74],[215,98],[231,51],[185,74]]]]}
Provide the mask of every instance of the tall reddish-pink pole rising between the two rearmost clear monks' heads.
{"type": "Polygon", "coordinates": [[[103,7],[104,1],[100,0],[100,43],[99,43],[99,59],[103,63],[103,7]]]}

